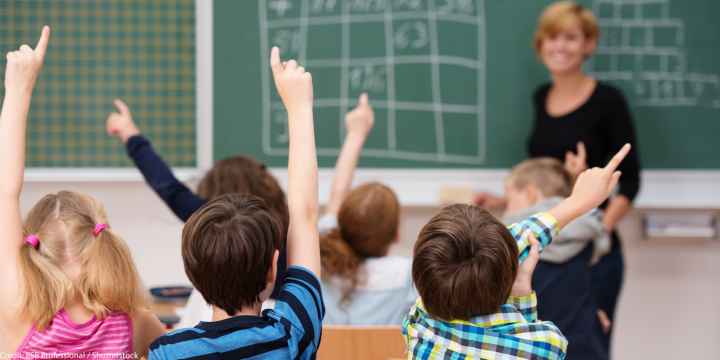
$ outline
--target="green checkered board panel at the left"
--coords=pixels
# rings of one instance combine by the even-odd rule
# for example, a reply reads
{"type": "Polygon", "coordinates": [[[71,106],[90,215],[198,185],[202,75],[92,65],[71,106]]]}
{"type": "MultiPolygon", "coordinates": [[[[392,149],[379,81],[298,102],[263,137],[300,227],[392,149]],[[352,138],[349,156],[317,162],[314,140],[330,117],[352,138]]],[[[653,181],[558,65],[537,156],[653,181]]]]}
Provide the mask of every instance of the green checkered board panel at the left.
{"type": "Polygon", "coordinates": [[[132,166],[105,134],[116,97],[170,164],[196,166],[193,0],[4,0],[0,53],[35,44],[43,24],[52,38],[32,100],[28,166],[132,166]]]}

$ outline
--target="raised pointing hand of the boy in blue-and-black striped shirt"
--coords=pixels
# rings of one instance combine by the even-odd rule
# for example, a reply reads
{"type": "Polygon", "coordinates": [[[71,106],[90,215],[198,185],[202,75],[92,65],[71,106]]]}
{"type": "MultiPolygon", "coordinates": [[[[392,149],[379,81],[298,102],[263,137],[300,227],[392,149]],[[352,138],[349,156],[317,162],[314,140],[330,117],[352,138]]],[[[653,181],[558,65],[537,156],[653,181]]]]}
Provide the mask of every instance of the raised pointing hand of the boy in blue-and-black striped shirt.
{"type": "Polygon", "coordinates": [[[270,52],[270,67],[275,87],[288,113],[312,109],[312,76],[295,60],[280,61],[280,49],[270,52]]]}

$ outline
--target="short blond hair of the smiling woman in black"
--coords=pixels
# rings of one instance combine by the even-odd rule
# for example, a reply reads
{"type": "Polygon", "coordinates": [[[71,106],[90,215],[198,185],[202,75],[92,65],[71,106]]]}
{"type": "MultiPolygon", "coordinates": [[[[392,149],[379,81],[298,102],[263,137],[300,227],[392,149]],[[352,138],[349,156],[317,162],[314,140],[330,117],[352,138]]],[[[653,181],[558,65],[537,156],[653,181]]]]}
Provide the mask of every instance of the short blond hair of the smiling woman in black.
{"type": "Polygon", "coordinates": [[[600,37],[598,22],[592,11],[574,1],[558,1],[549,5],[540,15],[537,30],[535,30],[533,43],[535,51],[540,52],[543,40],[576,24],[580,26],[583,34],[589,40],[597,40],[600,37]]]}

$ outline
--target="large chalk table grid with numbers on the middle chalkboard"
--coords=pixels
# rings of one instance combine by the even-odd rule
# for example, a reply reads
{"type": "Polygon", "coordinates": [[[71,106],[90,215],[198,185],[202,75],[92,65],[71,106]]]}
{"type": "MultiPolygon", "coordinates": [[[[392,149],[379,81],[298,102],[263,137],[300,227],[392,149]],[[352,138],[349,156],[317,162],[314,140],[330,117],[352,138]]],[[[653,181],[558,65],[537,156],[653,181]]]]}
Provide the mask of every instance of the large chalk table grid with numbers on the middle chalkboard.
{"type": "Polygon", "coordinates": [[[318,155],[338,154],[342,118],[367,91],[383,138],[369,141],[364,156],[485,161],[483,0],[261,0],[259,18],[266,155],[287,154],[287,115],[267,60],[277,45],[313,73],[318,155]],[[458,51],[453,41],[469,45],[458,51]],[[417,74],[416,89],[408,74],[417,74]],[[469,90],[458,94],[458,84],[469,90]]]}

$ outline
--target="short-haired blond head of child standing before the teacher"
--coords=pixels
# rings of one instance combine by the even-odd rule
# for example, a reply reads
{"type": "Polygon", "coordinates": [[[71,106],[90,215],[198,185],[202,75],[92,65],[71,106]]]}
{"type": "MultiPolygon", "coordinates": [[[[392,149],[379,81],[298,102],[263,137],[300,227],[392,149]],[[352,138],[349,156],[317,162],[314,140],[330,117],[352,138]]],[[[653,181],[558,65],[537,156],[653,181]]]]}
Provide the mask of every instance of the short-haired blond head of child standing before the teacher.
{"type": "Polygon", "coordinates": [[[518,211],[549,197],[568,197],[572,176],[554,158],[534,158],[513,167],[505,179],[508,211],[518,211]]]}

